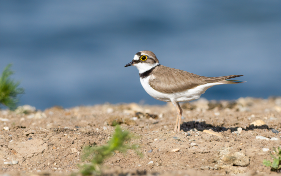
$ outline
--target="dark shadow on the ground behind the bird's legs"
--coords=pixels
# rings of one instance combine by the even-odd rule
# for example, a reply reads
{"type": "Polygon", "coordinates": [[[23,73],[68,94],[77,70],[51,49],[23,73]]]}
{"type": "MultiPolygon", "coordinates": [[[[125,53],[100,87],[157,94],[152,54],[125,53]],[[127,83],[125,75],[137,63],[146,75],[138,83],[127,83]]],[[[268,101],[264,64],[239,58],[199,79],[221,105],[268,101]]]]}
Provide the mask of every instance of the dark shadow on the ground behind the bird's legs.
{"type": "MultiPolygon", "coordinates": [[[[231,132],[237,131],[237,128],[225,128],[222,126],[213,126],[211,124],[207,124],[206,122],[198,122],[198,121],[190,121],[190,122],[184,122],[183,124],[180,125],[180,130],[183,130],[184,132],[187,132],[191,129],[196,129],[198,131],[203,131],[203,130],[209,130],[212,129],[215,132],[222,132],[222,131],[228,131],[231,130],[231,132]]],[[[249,127],[242,128],[245,131],[249,130],[254,130],[254,129],[270,129],[269,126],[267,125],[262,125],[262,126],[254,126],[250,125],[249,127]]]]}

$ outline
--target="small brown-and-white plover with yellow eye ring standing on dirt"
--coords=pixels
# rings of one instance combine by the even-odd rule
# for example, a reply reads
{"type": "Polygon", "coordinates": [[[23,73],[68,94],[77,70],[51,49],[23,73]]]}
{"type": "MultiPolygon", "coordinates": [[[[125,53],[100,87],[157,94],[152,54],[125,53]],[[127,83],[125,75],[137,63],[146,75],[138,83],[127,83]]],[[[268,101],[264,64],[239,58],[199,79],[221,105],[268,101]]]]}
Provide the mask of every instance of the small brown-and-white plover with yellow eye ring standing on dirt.
{"type": "Polygon", "coordinates": [[[174,132],[180,131],[182,109],[179,102],[196,100],[207,89],[215,85],[245,82],[230,80],[243,75],[206,77],[166,67],[160,65],[155,54],[147,50],[137,52],[133,61],[126,64],[125,67],[131,65],[138,68],[140,83],[151,97],[160,101],[172,102],[175,106],[177,117],[174,132]]]}

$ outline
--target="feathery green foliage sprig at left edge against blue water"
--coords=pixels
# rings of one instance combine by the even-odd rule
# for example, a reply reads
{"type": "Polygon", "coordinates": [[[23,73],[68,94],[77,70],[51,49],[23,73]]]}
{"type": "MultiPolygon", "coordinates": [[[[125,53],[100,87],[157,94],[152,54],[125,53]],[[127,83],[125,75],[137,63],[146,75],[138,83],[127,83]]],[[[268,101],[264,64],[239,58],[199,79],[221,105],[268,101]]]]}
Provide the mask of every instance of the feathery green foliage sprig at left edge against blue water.
{"type": "Polygon", "coordinates": [[[24,93],[23,88],[19,88],[19,82],[10,78],[13,71],[10,70],[11,64],[8,64],[0,77],[0,104],[14,110],[18,103],[17,96],[24,93]]]}

